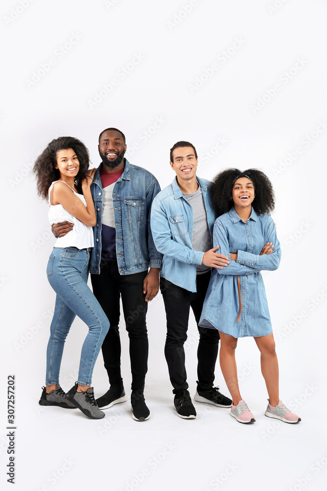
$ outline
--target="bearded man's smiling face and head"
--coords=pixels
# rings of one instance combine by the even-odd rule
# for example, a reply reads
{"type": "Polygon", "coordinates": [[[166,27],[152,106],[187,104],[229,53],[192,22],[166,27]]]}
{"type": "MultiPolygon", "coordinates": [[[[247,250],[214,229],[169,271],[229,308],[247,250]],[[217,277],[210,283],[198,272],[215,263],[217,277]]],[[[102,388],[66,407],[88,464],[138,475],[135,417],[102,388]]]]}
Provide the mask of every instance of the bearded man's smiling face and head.
{"type": "Polygon", "coordinates": [[[103,164],[115,169],[124,159],[126,144],[121,133],[110,130],[102,133],[98,149],[103,164]]]}

